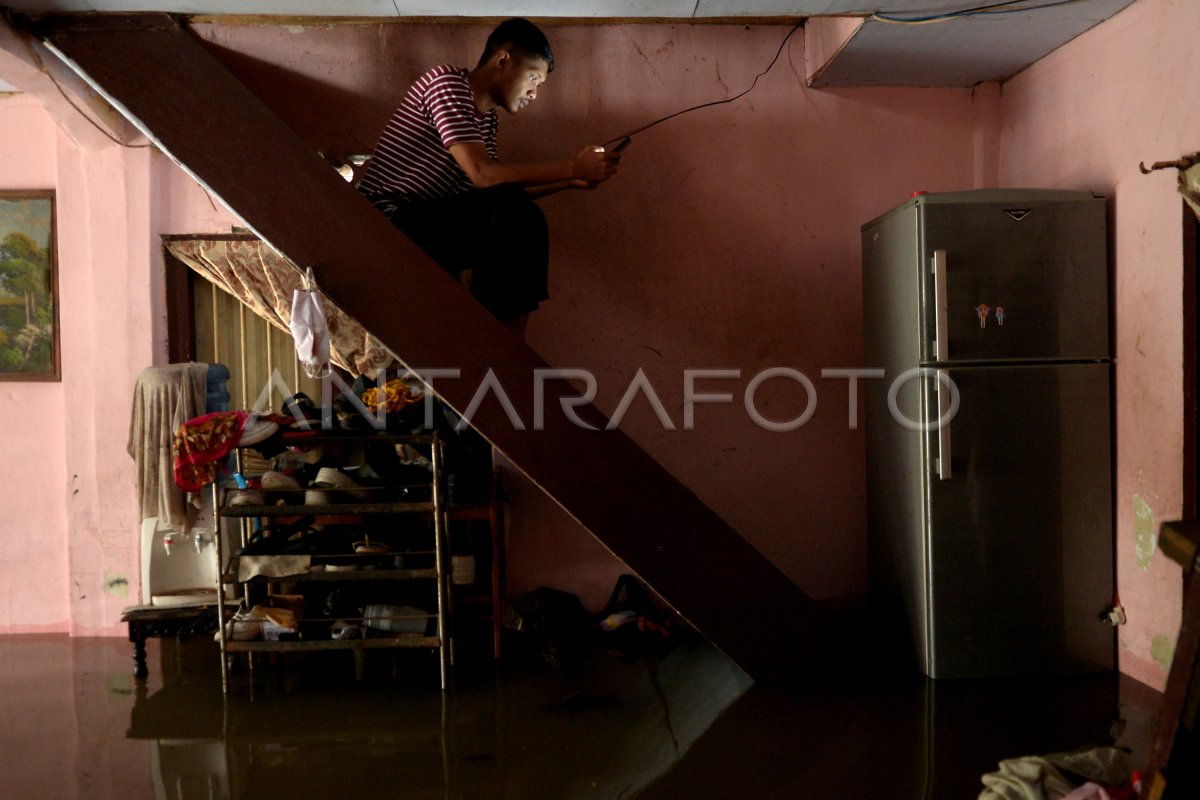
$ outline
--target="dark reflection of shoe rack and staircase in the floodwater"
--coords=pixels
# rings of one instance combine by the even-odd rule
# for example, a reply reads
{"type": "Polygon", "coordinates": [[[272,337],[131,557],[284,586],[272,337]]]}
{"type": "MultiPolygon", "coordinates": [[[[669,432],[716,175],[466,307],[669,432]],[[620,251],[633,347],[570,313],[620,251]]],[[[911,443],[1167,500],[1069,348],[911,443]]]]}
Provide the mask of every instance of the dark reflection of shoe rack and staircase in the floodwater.
{"type": "Polygon", "coordinates": [[[209,674],[139,692],[126,735],[150,742],[156,800],[630,798],[750,685],[700,640],[634,666],[598,652],[570,678],[468,674],[446,693],[419,664],[355,684],[320,661],[259,667],[228,698],[209,674]]]}

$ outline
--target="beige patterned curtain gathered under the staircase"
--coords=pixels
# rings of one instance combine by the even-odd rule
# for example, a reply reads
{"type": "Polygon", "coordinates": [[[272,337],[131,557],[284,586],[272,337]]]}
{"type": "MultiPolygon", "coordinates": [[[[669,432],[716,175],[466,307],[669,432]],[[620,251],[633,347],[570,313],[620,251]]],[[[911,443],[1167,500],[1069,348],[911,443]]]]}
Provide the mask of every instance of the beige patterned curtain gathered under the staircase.
{"type": "MultiPolygon", "coordinates": [[[[259,240],[186,239],[167,249],[204,279],[290,335],[292,293],[304,283],[302,270],[259,240]]],[[[319,287],[318,287],[319,288],[319,287]]],[[[330,360],[353,374],[376,374],[397,360],[376,337],[322,294],[329,326],[330,360]]]]}

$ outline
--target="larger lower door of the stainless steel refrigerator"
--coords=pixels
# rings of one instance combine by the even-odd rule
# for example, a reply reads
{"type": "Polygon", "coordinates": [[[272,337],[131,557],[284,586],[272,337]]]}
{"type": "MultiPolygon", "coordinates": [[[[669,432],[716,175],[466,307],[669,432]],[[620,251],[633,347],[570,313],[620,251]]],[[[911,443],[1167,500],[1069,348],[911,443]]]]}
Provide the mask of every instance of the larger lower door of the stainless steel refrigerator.
{"type": "MultiPolygon", "coordinates": [[[[946,371],[959,409],[924,449],[930,676],[1112,668],[1109,371],[946,371]]],[[[926,420],[935,386],[922,379],[926,420]]]]}

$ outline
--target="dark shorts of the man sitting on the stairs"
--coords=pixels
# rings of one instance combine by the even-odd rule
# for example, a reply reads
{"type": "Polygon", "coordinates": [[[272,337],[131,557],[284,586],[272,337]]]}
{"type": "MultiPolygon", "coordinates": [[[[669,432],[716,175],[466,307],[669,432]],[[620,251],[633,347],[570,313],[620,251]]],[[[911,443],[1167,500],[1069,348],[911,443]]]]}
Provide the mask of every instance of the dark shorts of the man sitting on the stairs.
{"type": "Polygon", "coordinates": [[[502,323],[546,300],[550,233],[516,184],[433,200],[395,198],[392,224],[451,275],[472,271],[470,293],[502,323]]]}

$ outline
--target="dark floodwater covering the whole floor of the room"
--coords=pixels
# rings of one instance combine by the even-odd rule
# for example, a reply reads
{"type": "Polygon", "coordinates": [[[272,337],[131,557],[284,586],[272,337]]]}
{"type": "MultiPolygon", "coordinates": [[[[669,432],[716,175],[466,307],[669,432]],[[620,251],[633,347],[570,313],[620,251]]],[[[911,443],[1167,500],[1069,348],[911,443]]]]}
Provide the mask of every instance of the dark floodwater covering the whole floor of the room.
{"type": "Polygon", "coordinates": [[[1003,758],[1116,738],[1145,763],[1160,702],[1111,675],[746,690],[684,637],[570,676],[462,654],[445,696],[430,652],[362,684],[344,652],[263,663],[228,699],[211,639],[149,655],[134,681],[122,639],[0,637],[0,798],[961,800],[1003,758]]]}

